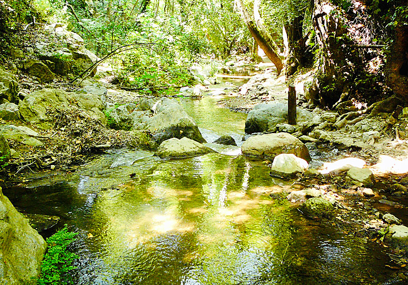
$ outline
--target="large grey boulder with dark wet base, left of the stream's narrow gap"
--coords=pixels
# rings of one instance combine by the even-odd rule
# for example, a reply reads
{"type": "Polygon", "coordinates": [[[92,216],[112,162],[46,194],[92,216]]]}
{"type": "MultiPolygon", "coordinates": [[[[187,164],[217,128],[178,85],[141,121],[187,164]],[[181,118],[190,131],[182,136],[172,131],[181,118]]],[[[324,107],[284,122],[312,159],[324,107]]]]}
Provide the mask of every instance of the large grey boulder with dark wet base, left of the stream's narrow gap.
{"type": "Polygon", "coordinates": [[[151,101],[145,100],[137,107],[127,104],[113,110],[114,126],[124,130],[149,130],[159,144],[171,138],[183,137],[205,142],[197,123],[175,99],[161,98],[150,106],[151,101]]]}

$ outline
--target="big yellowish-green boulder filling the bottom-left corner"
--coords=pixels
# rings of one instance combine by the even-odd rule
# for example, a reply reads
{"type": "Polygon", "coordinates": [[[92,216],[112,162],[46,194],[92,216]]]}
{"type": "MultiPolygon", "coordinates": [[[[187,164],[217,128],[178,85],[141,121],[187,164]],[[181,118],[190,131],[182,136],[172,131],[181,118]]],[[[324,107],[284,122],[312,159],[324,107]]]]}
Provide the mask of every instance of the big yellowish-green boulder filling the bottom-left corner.
{"type": "Polygon", "coordinates": [[[35,285],[46,248],[0,188],[0,284],[35,285]]]}

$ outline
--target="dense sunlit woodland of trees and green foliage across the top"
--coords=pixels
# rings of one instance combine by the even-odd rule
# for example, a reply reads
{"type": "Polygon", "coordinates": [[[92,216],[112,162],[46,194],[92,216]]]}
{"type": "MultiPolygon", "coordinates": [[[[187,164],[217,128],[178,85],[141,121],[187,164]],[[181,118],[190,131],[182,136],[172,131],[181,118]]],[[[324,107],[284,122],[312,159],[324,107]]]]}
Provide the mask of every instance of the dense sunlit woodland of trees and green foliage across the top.
{"type": "Polygon", "coordinates": [[[312,99],[329,108],[404,96],[407,86],[403,0],[1,0],[0,7],[6,53],[22,30],[62,22],[98,57],[114,54],[113,82],[122,86],[186,85],[198,58],[259,60],[258,44],[289,81],[316,67],[312,99]]]}

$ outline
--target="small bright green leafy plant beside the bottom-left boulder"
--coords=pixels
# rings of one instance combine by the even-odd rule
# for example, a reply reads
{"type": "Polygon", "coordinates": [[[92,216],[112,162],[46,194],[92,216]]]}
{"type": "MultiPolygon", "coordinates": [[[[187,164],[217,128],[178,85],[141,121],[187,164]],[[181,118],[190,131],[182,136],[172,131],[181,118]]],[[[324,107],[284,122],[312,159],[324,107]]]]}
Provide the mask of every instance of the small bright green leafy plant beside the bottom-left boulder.
{"type": "Polygon", "coordinates": [[[74,267],[73,261],[78,258],[68,250],[68,246],[75,240],[76,232],[68,231],[67,226],[58,230],[47,238],[48,252],[41,264],[41,275],[38,285],[71,285],[70,274],[74,267]]]}

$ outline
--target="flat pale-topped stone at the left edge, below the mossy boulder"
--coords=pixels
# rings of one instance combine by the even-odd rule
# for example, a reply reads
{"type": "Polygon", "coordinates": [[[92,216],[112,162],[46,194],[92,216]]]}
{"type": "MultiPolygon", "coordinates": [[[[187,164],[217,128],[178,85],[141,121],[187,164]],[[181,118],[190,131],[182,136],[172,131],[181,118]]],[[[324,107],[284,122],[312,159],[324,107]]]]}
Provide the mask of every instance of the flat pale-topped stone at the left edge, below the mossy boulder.
{"type": "Polygon", "coordinates": [[[3,125],[0,126],[0,133],[7,140],[13,140],[17,142],[24,143],[29,146],[41,146],[42,142],[33,138],[39,136],[38,133],[34,132],[28,127],[15,126],[15,125],[3,125]]]}

